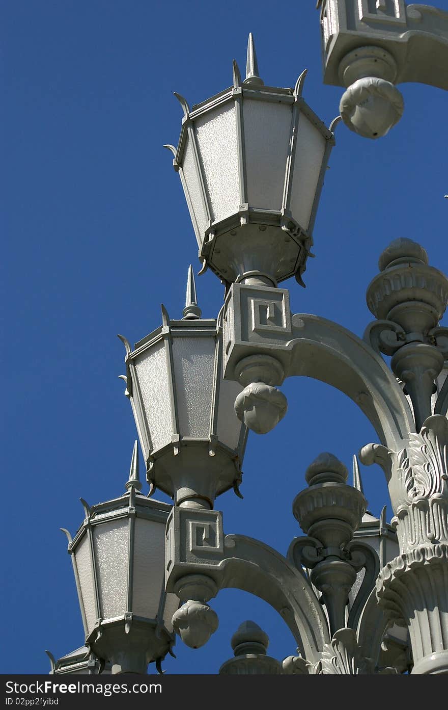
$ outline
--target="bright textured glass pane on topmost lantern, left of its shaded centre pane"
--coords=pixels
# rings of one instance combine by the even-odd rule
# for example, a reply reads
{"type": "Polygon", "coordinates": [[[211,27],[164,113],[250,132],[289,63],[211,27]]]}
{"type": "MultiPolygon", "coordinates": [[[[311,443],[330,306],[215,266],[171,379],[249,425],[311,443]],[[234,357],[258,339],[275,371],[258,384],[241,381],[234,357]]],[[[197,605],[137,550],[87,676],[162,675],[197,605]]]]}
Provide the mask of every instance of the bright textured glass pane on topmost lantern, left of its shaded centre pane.
{"type": "Polygon", "coordinates": [[[196,136],[213,221],[238,212],[238,146],[235,104],[209,111],[196,119],[196,136]]]}

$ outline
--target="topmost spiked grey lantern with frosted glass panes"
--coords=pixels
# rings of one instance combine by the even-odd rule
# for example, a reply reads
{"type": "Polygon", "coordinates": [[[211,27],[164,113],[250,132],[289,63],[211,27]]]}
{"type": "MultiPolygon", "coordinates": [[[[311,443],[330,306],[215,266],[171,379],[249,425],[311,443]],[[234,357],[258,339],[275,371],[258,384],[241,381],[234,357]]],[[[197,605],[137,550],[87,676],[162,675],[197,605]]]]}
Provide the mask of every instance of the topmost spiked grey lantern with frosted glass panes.
{"type": "Polygon", "coordinates": [[[184,109],[174,153],[199,257],[225,282],[266,275],[299,283],[335,139],[294,89],[258,76],[252,35],[247,77],[234,62],[233,87],[184,109]]]}

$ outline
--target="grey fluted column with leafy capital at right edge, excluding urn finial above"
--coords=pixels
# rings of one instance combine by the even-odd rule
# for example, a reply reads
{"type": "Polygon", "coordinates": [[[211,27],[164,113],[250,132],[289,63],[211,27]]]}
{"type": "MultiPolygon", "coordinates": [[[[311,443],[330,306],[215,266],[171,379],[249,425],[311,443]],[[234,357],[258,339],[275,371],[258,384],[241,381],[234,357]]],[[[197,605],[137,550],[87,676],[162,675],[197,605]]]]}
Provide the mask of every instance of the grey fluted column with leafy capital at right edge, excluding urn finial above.
{"type": "Polygon", "coordinates": [[[376,581],[391,621],[408,626],[413,673],[448,673],[448,421],[425,420],[396,452],[362,449],[386,473],[401,554],[376,581]]]}

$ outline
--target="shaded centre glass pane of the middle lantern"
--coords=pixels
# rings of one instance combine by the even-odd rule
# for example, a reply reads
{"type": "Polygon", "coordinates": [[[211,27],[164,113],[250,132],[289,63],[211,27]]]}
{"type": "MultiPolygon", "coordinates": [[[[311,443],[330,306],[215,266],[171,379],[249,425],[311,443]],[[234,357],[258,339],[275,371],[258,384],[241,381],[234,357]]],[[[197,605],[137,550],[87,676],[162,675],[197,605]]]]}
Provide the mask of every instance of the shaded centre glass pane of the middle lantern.
{"type": "Polygon", "coordinates": [[[173,337],[179,433],[184,437],[210,434],[213,392],[214,337],[173,337]]]}

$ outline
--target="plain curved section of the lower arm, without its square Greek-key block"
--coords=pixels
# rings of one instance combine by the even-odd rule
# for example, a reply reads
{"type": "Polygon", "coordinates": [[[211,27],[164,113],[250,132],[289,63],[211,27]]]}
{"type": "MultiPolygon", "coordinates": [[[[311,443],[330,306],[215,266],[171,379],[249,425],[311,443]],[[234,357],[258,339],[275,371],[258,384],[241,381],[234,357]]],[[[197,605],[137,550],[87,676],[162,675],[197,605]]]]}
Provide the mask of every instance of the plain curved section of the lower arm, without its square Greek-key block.
{"type": "Polygon", "coordinates": [[[220,563],[220,589],[242,589],[267,601],[284,618],[303,657],[317,662],[330,635],[308,580],[283,555],[252,537],[225,535],[224,549],[228,557],[220,563]]]}

